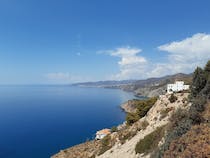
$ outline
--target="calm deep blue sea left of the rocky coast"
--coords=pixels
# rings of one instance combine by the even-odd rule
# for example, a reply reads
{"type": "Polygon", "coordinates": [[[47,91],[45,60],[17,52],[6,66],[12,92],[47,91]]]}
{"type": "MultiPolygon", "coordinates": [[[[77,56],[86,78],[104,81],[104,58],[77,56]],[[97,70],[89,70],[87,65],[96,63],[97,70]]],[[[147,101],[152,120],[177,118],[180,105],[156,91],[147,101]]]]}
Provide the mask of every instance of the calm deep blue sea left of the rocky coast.
{"type": "Polygon", "coordinates": [[[48,158],[122,123],[121,90],[0,86],[0,158],[48,158]]]}

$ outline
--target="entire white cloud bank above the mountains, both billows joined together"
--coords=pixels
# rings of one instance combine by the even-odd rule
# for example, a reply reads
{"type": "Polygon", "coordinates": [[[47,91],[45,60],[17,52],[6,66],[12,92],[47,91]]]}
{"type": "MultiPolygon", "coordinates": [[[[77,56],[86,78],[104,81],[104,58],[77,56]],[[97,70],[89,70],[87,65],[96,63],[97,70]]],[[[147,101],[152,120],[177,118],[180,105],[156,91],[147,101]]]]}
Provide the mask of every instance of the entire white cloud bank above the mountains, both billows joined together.
{"type": "Polygon", "coordinates": [[[111,79],[143,79],[180,72],[191,73],[210,59],[210,34],[197,33],[192,37],[161,45],[158,50],[166,52],[165,62],[149,62],[150,59],[139,56],[142,52],[139,48],[121,47],[103,51],[120,58],[120,72],[112,75],[111,79]]]}

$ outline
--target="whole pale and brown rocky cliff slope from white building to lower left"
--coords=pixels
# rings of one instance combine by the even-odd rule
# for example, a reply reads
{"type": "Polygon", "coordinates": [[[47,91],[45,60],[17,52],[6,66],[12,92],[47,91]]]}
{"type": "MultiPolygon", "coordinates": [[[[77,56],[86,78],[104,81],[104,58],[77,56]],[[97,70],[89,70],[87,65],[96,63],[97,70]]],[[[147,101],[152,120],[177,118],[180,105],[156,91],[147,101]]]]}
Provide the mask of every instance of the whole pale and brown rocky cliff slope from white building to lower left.
{"type": "MultiPolygon", "coordinates": [[[[169,95],[161,96],[147,115],[131,126],[122,125],[117,132],[109,135],[106,140],[90,141],[75,147],[66,149],[52,158],[137,158],[149,157],[136,154],[136,144],[157,128],[163,127],[169,122],[172,113],[178,108],[188,108],[185,101],[187,93],[176,94],[177,101],[170,103],[169,95]],[[79,153],[79,154],[78,154],[79,153]]],[[[129,106],[132,104],[127,104],[129,106]]],[[[128,108],[129,109],[129,108],[128,108]]],[[[130,111],[135,111],[132,107],[130,111]]],[[[161,143],[161,142],[160,142],[161,143]]]]}

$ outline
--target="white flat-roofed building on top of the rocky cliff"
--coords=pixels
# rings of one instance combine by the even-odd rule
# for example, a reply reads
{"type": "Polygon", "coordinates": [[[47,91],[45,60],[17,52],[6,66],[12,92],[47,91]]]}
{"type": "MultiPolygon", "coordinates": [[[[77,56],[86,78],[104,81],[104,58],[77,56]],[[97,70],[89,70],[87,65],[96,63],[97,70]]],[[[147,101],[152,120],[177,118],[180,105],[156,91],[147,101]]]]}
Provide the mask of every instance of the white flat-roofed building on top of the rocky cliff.
{"type": "Polygon", "coordinates": [[[185,85],[184,81],[176,81],[174,84],[167,85],[167,93],[180,92],[189,88],[190,85],[185,85]]]}

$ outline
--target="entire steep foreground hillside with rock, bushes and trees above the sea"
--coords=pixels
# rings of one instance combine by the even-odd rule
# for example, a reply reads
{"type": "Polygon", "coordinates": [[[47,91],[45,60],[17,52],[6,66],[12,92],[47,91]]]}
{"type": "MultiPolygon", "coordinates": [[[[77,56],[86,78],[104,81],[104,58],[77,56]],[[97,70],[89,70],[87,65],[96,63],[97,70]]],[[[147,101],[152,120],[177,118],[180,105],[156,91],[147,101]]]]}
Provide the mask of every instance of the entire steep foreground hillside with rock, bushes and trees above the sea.
{"type": "Polygon", "coordinates": [[[111,134],[52,158],[209,158],[210,61],[193,73],[190,93],[132,100],[124,110],[111,134]]]}

